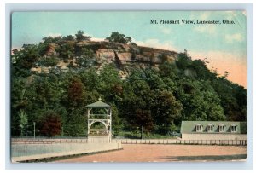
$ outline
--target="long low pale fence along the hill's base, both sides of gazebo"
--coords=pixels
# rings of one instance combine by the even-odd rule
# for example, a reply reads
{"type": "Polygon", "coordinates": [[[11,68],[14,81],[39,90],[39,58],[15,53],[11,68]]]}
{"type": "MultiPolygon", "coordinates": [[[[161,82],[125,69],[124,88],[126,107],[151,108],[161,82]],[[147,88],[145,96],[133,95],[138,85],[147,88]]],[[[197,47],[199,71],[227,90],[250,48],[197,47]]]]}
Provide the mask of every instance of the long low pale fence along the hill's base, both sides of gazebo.
{"type": "MultiPolygon", "coordinates": [[[[54,144],[54,143],[88,143],[88,139],[33,139],[12,138],[13,144],[54,144]]],[[[185,144],[185,145],[230,145],[247,146],[247,140],[179,140],[179,139],[112,139],[122,144],[185,144]]]]}

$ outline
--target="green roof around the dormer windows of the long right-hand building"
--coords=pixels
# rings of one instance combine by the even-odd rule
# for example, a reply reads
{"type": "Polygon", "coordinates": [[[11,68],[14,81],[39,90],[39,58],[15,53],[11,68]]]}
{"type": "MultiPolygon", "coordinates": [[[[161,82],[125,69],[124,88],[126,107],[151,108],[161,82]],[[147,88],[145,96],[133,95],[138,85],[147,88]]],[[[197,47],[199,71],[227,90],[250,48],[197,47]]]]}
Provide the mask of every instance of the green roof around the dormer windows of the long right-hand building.
{"type": "Polygon", "coordinates": [[[207,125],[213,125],[213,131],[211,133],[230,133],[231,125],[236,125],[236,133],[239,134],[247,134],[247,122],[238,122],[238,121],[182,121],[181,125],[181,133],[182,134],[191,134],[191,133],[199,133],[196,132],[196,125],[202,125],[201,133],[209,133],[207,131],[207,125]],[[219,125],[224,125],[224,132],[219,132],[219,125]]]}

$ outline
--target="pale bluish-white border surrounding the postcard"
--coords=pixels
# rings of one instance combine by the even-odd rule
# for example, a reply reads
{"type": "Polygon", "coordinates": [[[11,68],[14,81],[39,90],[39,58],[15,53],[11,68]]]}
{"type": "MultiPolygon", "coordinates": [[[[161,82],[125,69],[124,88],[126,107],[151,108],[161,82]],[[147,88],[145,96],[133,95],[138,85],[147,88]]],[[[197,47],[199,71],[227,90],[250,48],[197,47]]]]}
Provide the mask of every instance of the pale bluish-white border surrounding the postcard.
{"type": "MultiPolygon", "coordinates": [[[[24,2],[24,1],[23,1],[24,2]]],[[[46,3],[55,3],[53,1],[44,1],[46,3]]],[[[66,3],[67,1],[62,1],[66,3]]],[[[5,103],[0,104],[1,110],[5,110],[5,121],[2,120],[1,131],[5,130],[5,168],[6,169],[66,169],[66,170],[76,170],[76,169],[150,169],[150,170],[162,170],[162,169],[252,169],[253,168],[253,141],[248,141],[248,157],[246,162],[222,162],[222,163],[139,163],[139,164],[110,164],[110,163],[85,163],[85,164],[10,164],[9,158],[9,49],[10,49],[10,13],[12,11],[27,11],[27,10],[247,10],[247,111],[248,111],[248,139],[253,137],[253,5],[243,4],[251,3],[252,1],[242,1],[240,4],[225,4],[229,1],[222,1],[222,4],[187,4],[189,1],[185,1],[185,4],[73,4],[78,2],[73,0],[71,4],[5,4],[6,6],[1,6],[1,20],[4,20],[5,11],[5,40],[2,34],[2,43],[5,43],[5,49],[1,47],[1,52],[4,52],[5,62],[0,63],[0,77],[5,78],[5,85],[1,88],[1,94],[5,95],[5,103]],[[4,10],[5,8],[5,10],[4,10]],[[3,71],[3,72],[2,72],[3,71]],[[2,93],[3,92],[3,93],[2,93]],[[4,126],[6,124],[6,126],[4,126]],[[5,128],[4,128],[5,127],[5,128]]],[[[92,3],[95,1],[92,1],[92,3]]],[[[104,3],[104,1],[101,1],[104,3]]],[[[135,2],[135,1],[129,1],[135,2]]],[[[140,3],[141,1],[136,1],[140,3]]],[[[158,3],[162,2],[161,0],[158,3]]],[[[175,1],[176,3],[180,1],[175,1]]],[[[19,3],[19,1],[9,1],[8,3],[19,3]]],[[[25,3],[35,3],[34,1],[25,1],[25,3]]],[[[81,2],[80,2],[81,3],[81,2]]],[[[201,1],[200,3],[205,3],[201,1]]],[[[2,28],[4,28],[2,26],[2,28]]],[[[3,29],[2,29],[3,30],[3,29]]],[[[4,31],[2,31],[4,33],[4,31]]],[[[254,70],[255,72],[255,70],[254,70]]],[[[255,84],[254,84],[255,86],[255,84]]],[[[255,98],[255,97],[254,97],[255,98]]],[[[1,113],[2,114],[2,113],[1,113]]],[[[3,115],[2,114],[2,115],[3,115]]],[[[2,116],[4,117],[4,116],[2,116]]],[[[1,137],[2,137],[1,133],[1,137]]],[[[3,135],[3,136],[4,136],[3,135]]],[[[4,141],[4,137],[2,138],[4,141]]],[[[3,152],[1,153],[4,153],[3,152]]],[[[2,162],[2,164],[4,161],[2,162]]]]}

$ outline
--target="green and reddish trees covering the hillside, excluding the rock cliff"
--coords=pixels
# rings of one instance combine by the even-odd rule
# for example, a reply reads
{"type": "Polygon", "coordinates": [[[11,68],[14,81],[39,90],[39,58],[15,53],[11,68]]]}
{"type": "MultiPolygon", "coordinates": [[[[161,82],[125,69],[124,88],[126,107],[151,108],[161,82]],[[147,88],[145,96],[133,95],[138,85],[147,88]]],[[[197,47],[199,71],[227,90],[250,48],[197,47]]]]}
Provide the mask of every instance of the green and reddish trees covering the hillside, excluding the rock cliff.
{"type": "MultiPolygon", "coordinates": [[[[207,69],[206,61],[192,61],[187,52],[159,70],[131,69],[125,79],[112,63],[100,72],[87,64],[79,71],[32,75],[29,69],[42,63],[44,47],[49,46],[45,40],[15,49],[12,55],[12,136],[32,136],[33,122],[37,136],[86,136],[85,106],[99,97],[112,107],[115,134],[143,126],[146,132],[166,135],[178,131],[182,120],[247,120],[247,90],[227,80],[228,73],[219,76],[207,69]]],[[[130,37],[126,41],[131,42],[130,37]]],[[[84,52],[79,53],[93,60],[93,50],[84,52]]]]}

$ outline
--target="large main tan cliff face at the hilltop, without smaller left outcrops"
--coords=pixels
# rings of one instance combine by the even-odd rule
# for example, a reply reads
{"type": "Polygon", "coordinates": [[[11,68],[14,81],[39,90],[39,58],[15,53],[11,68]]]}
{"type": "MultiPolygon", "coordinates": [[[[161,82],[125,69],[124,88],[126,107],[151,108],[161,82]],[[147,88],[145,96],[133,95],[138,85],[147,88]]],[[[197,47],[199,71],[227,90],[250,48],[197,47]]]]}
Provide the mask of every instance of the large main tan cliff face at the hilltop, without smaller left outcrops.
{"type": "Polygon", "coordinates": [[[109,42],[89,42],[84,45],[99,48],[95,49],[96,63],[99,66],[114,62],[120,70],[125,71],[129,70],[129,66],[157,67],[164,61],[174,62],[177,59],[177,52],[137,45],[109,42]]]}

